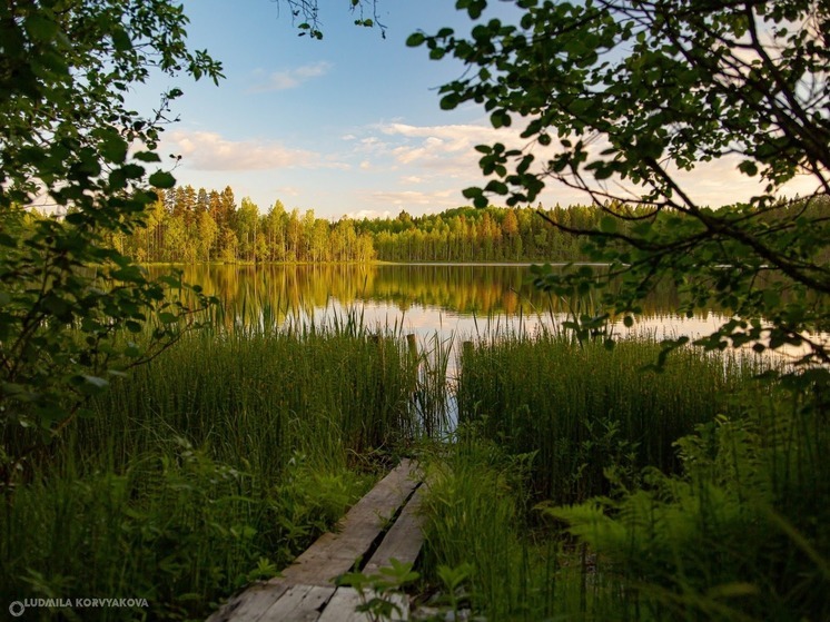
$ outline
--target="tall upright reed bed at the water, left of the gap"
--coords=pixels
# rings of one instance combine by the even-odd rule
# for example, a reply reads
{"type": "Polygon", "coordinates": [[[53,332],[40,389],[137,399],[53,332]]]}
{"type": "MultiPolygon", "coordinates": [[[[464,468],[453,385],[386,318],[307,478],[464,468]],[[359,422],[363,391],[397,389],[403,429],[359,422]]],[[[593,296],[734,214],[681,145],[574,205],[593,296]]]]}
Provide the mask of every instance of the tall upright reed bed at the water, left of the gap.
{"type": "Polygon", "coordinates": [[[339,464],[412,442],[414,379],[405,344],[392,336],[204,329],[98,396],[78,442],[95,452],[113,438],[121,460],[175,430],[223,462],[278,477],[294,451],[339,464]]]}

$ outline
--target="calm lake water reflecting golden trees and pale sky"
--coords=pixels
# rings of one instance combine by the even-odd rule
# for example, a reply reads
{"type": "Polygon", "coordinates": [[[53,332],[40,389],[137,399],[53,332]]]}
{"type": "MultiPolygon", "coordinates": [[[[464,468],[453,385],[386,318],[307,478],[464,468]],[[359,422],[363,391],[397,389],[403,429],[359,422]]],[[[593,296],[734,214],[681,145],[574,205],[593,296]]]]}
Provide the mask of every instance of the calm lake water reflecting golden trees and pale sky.
{"type": "MultiPolygon", "coordinates": [[[[154,268],[154,271],[160,268],[154,268]]],[[[510,329],[555,327],[566,302],[530,284],[528,266],[517,265],[318,265],[188,266],[188,283],[219,297],[226,320],[283,325],[360,318],[370,328],[394,328],[454,340],[510,329]]],[[[711,332],[721,317],[678,317],[671,290],[646,300],[632,330],[659,337],[711,332]]],[[[629,330],[621,325],[621,334],[629,330]]]]}

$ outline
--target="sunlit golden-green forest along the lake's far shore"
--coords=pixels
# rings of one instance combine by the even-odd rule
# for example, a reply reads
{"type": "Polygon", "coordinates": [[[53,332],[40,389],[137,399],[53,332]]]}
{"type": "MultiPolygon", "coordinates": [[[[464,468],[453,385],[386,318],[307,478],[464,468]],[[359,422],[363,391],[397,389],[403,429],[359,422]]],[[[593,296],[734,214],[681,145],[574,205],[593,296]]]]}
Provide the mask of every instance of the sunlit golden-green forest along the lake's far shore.
{"type": "Polygon", "coordinates": [[[178,186],[157,190],[144,224],[116,230],[112,246],[139,263],[575,261],[586,258],[564,227],[597,226],[597,207],[475,209],[332,221],[313,209],[267,211],[234,190],[178,186]]]}

